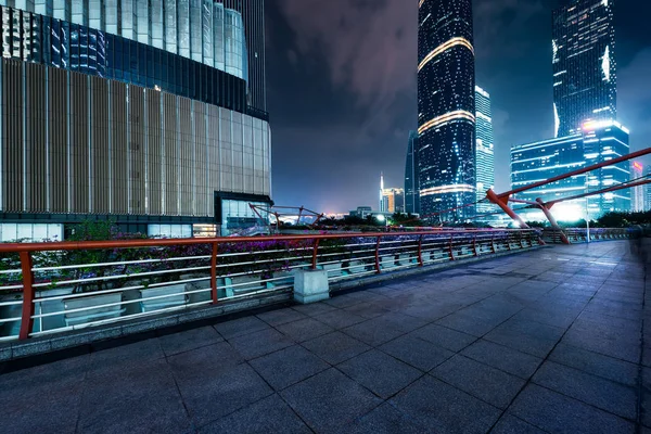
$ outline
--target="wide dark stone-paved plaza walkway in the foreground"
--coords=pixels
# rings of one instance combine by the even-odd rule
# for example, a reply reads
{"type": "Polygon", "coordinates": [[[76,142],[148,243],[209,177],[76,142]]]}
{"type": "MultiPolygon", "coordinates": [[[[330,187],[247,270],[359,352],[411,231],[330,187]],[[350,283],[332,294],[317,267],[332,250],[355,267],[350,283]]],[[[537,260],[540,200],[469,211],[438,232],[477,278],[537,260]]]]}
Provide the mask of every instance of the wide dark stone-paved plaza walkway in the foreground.
{"type": "Polygon", "coordinates": [[[631,246],[541,248],[9,372],[0,432],[651,433],[631,246]]]}

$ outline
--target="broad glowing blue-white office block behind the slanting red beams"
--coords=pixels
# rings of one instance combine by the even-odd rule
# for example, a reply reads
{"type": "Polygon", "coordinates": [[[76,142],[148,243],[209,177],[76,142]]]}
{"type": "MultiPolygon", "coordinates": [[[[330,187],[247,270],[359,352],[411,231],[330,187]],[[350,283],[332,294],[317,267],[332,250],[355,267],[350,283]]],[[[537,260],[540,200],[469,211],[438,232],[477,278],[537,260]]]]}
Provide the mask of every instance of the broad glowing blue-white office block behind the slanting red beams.
{"type": "MultiPolygon", "coordinates": [[[[628,129],[614,120],[590,122],[584,124],[580,132],[572,136],[513,146],[511,188],[516,189],[627,155],[628,136],[628,129]]],[[[540,197],[548,202],[617,186],[627,182],[629,177],[628,163],[624,162],[518,193],[514,199],[533,202],[540,197]]],[[[576,220],[586,215],[595,219],[607,212],[629,209],[630,192],[620,190],[563,202],[554,205],[552,212],[558,213],[557,218],[561,220],[576,220]]],[[[532,214],[531,210],[523,212],[525,219],[529,218],[527,214],[532,214]]]]}

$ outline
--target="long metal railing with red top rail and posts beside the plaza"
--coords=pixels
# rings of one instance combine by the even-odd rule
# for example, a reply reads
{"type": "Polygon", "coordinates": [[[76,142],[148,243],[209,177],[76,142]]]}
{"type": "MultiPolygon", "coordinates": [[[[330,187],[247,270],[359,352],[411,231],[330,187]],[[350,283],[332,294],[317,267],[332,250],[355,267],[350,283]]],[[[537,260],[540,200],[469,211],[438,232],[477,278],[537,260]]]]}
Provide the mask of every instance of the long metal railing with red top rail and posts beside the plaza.
{"type": "Polygon", "coordinates": [[[525,250],[536,230],[130,240],[0,245],[0,341],[291,291],[329,281],[525,250]]]}

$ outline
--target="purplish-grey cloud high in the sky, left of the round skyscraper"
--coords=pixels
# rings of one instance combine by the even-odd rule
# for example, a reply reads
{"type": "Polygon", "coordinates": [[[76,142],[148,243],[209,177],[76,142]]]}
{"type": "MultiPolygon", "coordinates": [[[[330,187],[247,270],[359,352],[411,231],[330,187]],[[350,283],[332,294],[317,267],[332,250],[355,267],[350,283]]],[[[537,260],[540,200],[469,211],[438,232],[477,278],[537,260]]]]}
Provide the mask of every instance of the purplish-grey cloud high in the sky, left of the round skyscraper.
{"type": "Polygon", "coordinates": [[[385,110],[416,89],[418,8],[405,0],[279,0],[299,56],[326,60],[332,84],[385,110]]]}

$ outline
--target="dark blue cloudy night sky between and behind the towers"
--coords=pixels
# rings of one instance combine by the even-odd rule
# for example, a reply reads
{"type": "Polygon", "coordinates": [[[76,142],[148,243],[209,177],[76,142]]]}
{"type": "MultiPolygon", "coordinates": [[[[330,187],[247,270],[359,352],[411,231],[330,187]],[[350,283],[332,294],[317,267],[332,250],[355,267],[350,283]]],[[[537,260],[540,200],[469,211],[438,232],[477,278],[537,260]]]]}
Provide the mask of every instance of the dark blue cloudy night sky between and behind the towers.
{"type": "MultiPolygon", "coordinates": [[[[613,1],[613,0],[611,0],[613,1]]],[[[615,0],[617,117],[651,146],[651,2],[615,0]]],[[[513,144],[553,136],[557,0],[474,0],[476,82],[490,93],[496,190],[513,144]]],[[[272,199],[343,213],[404,187],[417,129],[417,0],[267,0],[272,199]]],[[[644,161],[650,163],[651,161],[644,161]]]]}

